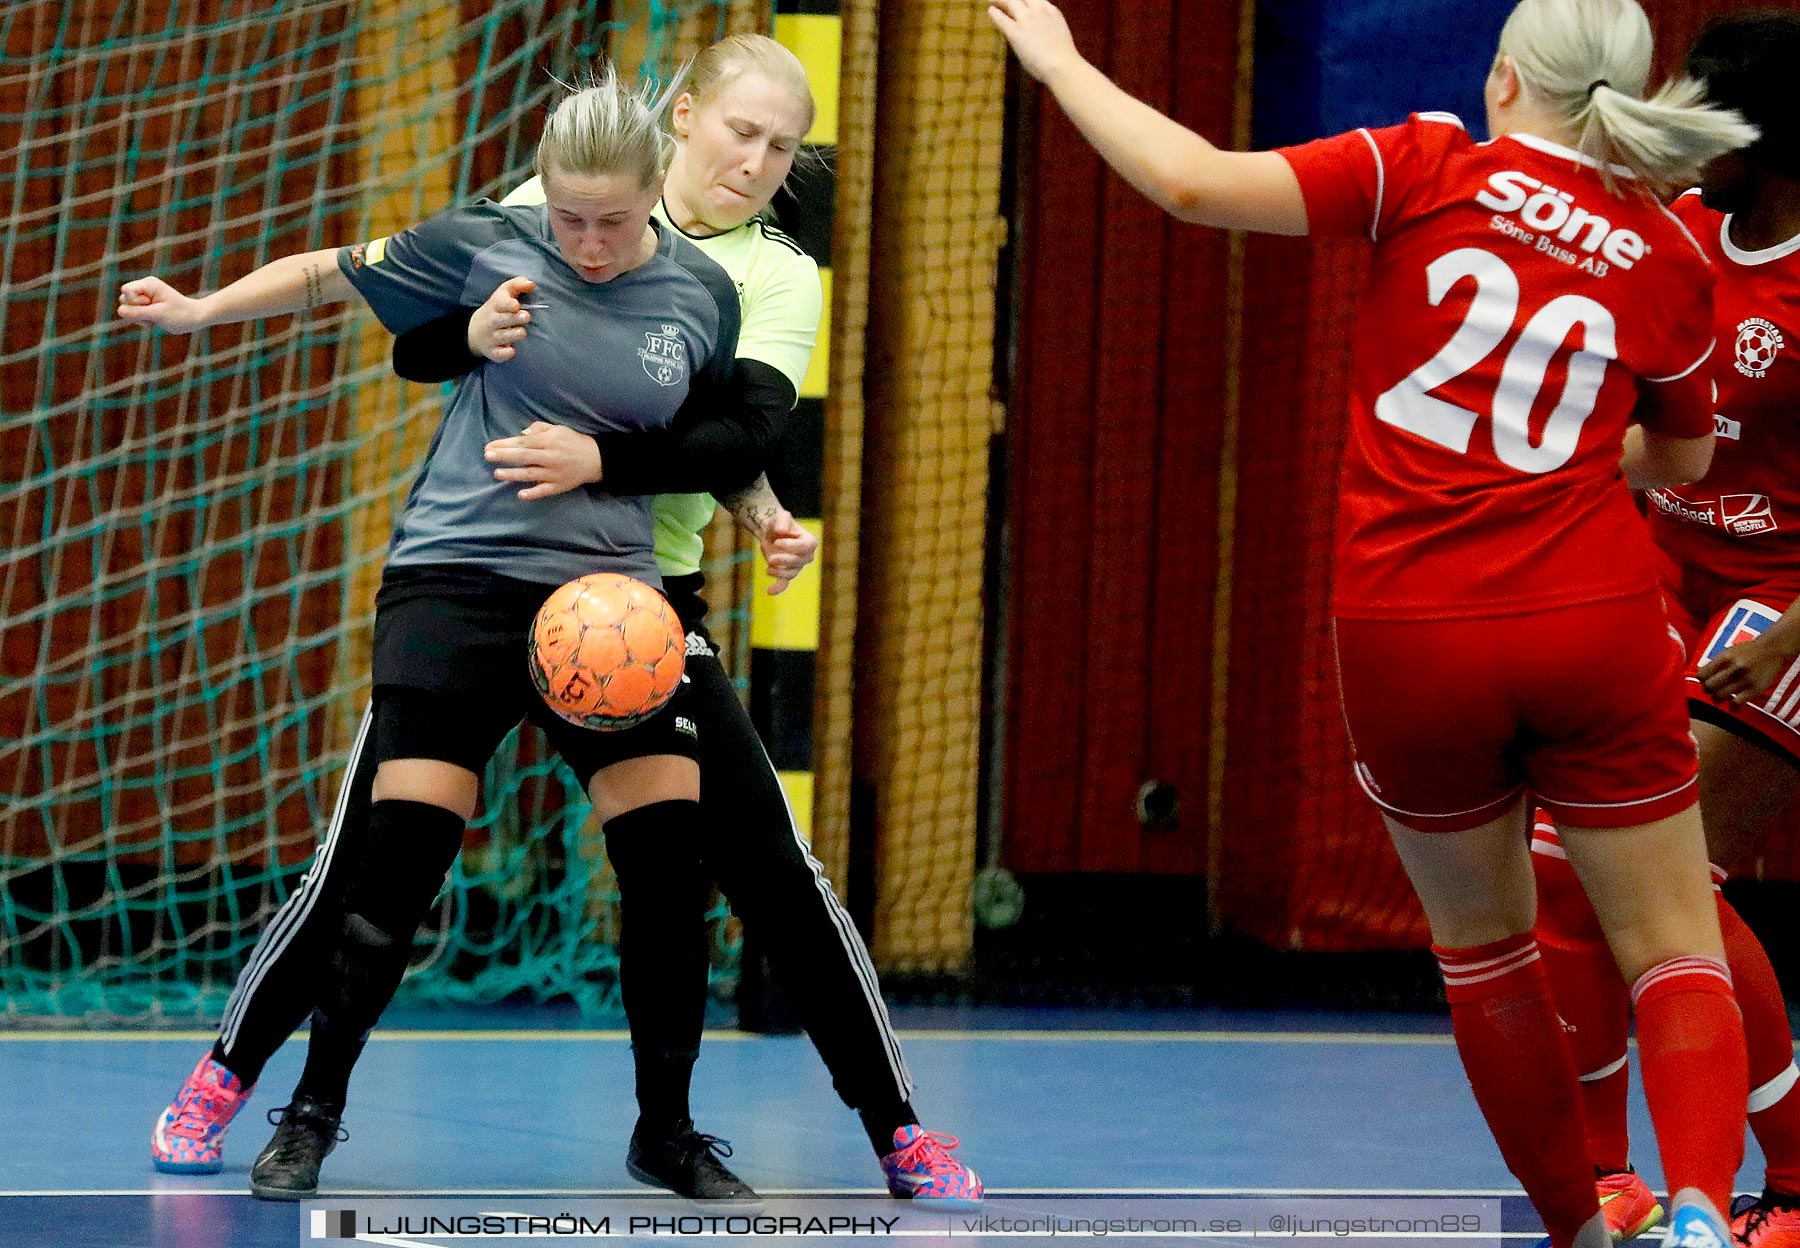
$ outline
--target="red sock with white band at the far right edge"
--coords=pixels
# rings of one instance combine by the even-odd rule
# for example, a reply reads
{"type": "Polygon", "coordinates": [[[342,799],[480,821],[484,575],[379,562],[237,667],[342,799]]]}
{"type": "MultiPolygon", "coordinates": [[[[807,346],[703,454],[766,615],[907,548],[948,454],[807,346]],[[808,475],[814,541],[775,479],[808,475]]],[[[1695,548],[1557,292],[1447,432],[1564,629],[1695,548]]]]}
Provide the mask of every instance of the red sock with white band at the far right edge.
{"type": "Polygon", "coordinates": [[[1742,917],[1719,897],[1724,960],[1732,967],[1737,1008],[1744,1012],[1744,1048],[1750,1055],[1750,1129],[1768,1158],[1764,1183],[1800,1196],[1800,1097],[1791,1095],[1795,1037],[1787,1026],[1787,999],[1762,942],[1742,917]]]}

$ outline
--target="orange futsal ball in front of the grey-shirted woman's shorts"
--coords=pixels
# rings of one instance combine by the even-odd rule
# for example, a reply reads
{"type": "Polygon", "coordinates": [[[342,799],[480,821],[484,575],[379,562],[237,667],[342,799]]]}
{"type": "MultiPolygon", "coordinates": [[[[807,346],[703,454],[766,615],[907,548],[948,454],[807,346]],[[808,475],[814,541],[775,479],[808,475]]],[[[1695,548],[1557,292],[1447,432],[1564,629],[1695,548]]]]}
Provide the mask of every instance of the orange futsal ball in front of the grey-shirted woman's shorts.
{"type": "Polygon", "coordinates": [[[668,598],[641,580],[594,573],[553,592],[531,623],[531,681],[571,724],[617,731],[675,697],[688,638],[668,598]]]}

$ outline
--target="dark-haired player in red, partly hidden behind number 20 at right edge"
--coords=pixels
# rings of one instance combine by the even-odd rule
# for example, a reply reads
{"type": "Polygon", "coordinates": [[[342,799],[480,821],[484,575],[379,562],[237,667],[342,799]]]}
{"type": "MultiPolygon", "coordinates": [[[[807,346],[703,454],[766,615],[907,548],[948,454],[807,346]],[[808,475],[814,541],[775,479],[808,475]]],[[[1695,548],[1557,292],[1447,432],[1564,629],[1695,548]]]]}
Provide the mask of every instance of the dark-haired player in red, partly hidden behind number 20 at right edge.
{"type": "MultiPolygon", "coordinates": [[[[1800,128],[1793,65],[1800,14],[1714,25],[1688,72],[1762,130],[1676,200],[1717,272],[1717,450],[1703,481],[1649,493],[1663,596],[1688,654],[1701,814],[1712,861],[1737,868],[1800,789],[1800,128]]],[[[1548,816],[1532,841],[1539,945],[1586,1100],[1589,1151],[1615,1239],[1660,1210],[1631,1171],[1625,1133],[1625,987],[1548,816]]],[[[1715,866],[1717,879],[1724,870],[1715,866]]],[[[1739,1241],[1800,1248],[1800,1070],[1780,983],[1742,918],[1719,897],[1726,962],[1744,1012],[1750,1127],[1768,1160],[1739,1241]]]]}

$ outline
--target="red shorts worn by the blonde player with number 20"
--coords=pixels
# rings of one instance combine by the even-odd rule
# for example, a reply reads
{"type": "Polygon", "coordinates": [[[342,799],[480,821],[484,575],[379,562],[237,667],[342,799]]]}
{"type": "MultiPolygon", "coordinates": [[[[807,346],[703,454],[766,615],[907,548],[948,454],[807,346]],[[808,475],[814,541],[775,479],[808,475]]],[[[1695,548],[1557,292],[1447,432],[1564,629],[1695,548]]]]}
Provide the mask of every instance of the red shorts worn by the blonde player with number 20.
{"type": "Polygon", "coordinates": [[[1337,619],[1355,776],[1391,819],[1460,832],[1530,792],[1579,828],[1697,800],[1683,652],[1658,594],[1480,619],[1337,619]]]}

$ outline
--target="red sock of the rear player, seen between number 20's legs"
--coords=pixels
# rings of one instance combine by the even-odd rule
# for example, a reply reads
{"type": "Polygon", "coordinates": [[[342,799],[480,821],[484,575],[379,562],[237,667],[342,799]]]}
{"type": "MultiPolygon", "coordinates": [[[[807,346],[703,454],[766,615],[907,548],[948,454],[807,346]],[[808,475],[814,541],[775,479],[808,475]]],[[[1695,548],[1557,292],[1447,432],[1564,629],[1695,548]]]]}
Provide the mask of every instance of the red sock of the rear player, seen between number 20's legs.
{"type": "Polygon", "coordinates": [[[1625,1117],[1631,989],[1543,810],[1532,836],[1532,872],[1537,875],[1537,947],[1580,1077],[1588,1153],[1598,1169],[1624,1171],[1631,1165],[1625,1117]]]}

